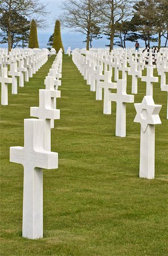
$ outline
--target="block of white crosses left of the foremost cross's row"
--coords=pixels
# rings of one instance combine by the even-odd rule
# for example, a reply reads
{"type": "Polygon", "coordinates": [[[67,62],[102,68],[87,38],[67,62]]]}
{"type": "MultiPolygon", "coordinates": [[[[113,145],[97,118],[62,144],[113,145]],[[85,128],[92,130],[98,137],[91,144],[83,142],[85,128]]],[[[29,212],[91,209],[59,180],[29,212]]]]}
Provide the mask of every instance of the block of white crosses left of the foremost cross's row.
{"type": "Polygon", "coordinates": [[[38,69],[42,67],[48,60],[47,51],[0,51],[1,67],[1,105],[8,105],[8,84],[12,84],[12,94],[18,94],[18,77],[19,86],[24,86],[24,81],[29,81],[29,77],[33,77],[38,69]],[[10,71],[8,71],[8,65],[10,71]],[[11,76],[11,77],[8,77],[11,76]]]}

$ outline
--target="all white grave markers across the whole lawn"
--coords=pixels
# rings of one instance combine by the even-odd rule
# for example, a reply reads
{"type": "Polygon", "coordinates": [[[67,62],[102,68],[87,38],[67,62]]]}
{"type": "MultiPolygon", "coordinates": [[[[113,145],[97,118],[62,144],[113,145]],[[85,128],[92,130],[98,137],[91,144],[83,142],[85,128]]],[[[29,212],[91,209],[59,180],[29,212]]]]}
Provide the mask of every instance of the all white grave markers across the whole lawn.
{"type": "MultiPolygon", "coordinates": [[[[152,51],[148,53],[140,50],[137,53],[133,49],[117,49],[110,54],[107,51],[109,49],[84,52],[75,49],[72,51],[72,60],[87,80],[87,84],[91,86],[91,91],[96,92],[96,100],[102,100],[104,91],[104,114],[111,114],[111,102],[117,103],[115,126],[117,137],[126,137],[126,104],[134,102],[132,94],[137,94],[137,79],[141,78],[141,81],[146,83],[146,96],[141,103],[134,104],[136,109],[134,122],[139,122],[141,125],[139,176],[154,179],[155,125],[161,123],[159,113],[162,106],[156,105],[153,100],[153,82],[158,82],[158,77],[153,76],[153,69],[157,68],[161,76],[161,90],[168,92],[166,84],[168,51],[161,49],[159,53],[152,51]],[[111,79],[113,68],[114,82],[111,79]],[[142,76],[144,68],[147,68],[147,76],[142,76]],[[122,71],[122,79],[119,79],[119,71],[122,71]],[[132,76],[132,94],[127,94],[127,73],[132,76]],[[116,90],[116,93],[111,93],[111,90],[116,90]]],[[[0,50],[1,52],[3,51],[0,50]]],[[[53,49],[52,54],[54,53],[53,49]]],[[[27,58],[23,57],[19,61],[17,58],[20,55],[15,51],[12,56],[3,55],[3,58],[0,57],[1,104],[7,105],[7,84],[12,83],[12,93],[17,93],[17,77],[22,77],[19,85],[23,86],[23,79],[27,81],[28,77],[32,77],[33,72],[47,61],[48,52],[44,51],[38,55],[36,64],[35,60],[27,55],[27,58]],[[9,63],[10,60],[12,61],[9,63]],[[8,64],[10,64],[9,72],[5,66],[8,64]]],[[[71,49],[68,49],[68,55],[71,55],[71,49]]],[[[23,237],[31,239],[43,236],[43,169],[58,168],[58,153],[51,152],[51,129],[54,128],[54,120],[60,118],[56,100],[61,97],[61,92],[58,90],[61,86],[61,77],[62,49],[45,78],[45,89],[39,90],[39,106],[31,107],[31,117],[38,119],[24,119],[24,147],[10,147],[10,162],[22,164],[24,167],[23,237]]]]}

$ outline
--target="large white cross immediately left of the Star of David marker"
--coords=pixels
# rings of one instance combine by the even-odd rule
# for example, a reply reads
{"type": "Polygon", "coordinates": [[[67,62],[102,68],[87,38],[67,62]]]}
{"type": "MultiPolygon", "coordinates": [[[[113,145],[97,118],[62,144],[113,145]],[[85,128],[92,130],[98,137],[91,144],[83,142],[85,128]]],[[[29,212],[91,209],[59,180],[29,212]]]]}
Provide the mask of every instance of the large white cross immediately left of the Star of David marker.
{"type": "Polygon", "coordinates": [[[109,100],[117,103],[115,136],[126,137],[126,103],[134,102],[134,95],[127,94],[127,81],[117,81],[117,93],[110,93],[109,100]]]}

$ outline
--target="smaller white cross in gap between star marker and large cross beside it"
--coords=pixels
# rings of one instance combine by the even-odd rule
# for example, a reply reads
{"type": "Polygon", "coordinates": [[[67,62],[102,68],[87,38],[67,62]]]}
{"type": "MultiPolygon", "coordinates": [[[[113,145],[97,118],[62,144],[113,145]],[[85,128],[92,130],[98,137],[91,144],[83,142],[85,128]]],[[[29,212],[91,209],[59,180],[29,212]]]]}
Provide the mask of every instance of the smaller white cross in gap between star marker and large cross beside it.
{"type": "Polygon", "coordinates": [[[128,75],[132,76],[131,93],[137,94],[137,77],[141,77],[142,72],[137,70],[137,62],[136,61],[132,61],[131,69],[128,71],[128,75]]]}

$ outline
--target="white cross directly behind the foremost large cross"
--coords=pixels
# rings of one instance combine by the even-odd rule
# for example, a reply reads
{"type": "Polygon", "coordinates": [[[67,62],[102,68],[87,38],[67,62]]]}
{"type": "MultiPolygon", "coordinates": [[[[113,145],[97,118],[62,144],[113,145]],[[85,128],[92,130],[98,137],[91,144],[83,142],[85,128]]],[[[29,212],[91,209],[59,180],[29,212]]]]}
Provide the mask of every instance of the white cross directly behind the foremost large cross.
{"type": "Polygon", "coordinates": [[[51,98],[57,97],[57,90],[39,90],[39,107],[31,107],[31,117],[38,117],[44,122],[44,148],[51,150],[51,119],[60,119],[60,110],[51,108],[51,98]]]}

